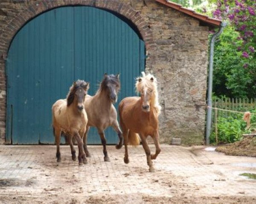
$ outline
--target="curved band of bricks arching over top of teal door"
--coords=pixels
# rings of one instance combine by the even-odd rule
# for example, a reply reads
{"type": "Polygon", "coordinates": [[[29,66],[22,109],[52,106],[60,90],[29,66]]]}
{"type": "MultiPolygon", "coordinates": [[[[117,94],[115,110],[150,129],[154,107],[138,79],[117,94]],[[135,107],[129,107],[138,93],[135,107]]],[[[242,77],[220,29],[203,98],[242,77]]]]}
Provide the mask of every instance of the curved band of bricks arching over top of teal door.
{"type": "Polygon", "coordinates": [[[37,15],[53,8],[61,6],[93,6],[114,11],[126,17],[137,27],[145,42],[146,49],[149,50],[152,44],[152,33],[148,28],[148,23],[143,19],[139,12],[135,11],[131,6],[117,2],[115,0],[64,0],[64,1],[42,1],[28,6],[22,12],[17,14],[14,19],[4,28],[0,39],[0,52],[2,57],[5,57],[12,38],[17,31],[23,27],[29,20],[37,15]]]}

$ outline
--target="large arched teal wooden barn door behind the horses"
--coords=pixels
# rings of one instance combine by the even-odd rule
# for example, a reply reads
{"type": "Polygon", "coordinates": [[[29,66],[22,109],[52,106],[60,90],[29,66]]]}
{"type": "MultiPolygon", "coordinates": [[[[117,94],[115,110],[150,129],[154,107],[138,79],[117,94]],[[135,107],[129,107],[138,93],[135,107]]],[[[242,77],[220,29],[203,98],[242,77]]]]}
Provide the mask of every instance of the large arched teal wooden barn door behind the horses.
{"type": "MultiPolygon", "coordinates": [[[[6,140],[54,144],[51,107],[66,98],[76,79],[95,94],[103,74],[120,73],[121,99],[134,96],[134,79],[144,70],[145,45],[121,16],[87,7],[61,7],[29,21],[15,35],[6,63],[6,140]]],[[[108,128],[108,144],[117,142],[108,128]]],[[[91,128],[89,144],[101,144],[91,128]]]]}

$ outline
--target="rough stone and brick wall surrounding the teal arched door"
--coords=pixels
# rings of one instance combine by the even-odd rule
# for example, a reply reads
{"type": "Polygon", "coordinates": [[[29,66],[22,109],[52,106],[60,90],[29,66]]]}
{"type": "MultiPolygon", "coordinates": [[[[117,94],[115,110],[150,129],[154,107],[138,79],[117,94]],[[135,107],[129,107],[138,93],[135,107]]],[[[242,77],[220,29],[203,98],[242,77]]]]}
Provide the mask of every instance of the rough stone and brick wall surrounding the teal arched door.
{"type": "Polygon", "coordinates": [[[208,27],[154,0],[1,0],[0,1],[0,143],[5,141],[5,61],[15,32],[49,8],[90,5],[119,12],[139,29],[146,44],[146,72],[157,77],[160,140],[204,143],[208,63],[208,27]]]}

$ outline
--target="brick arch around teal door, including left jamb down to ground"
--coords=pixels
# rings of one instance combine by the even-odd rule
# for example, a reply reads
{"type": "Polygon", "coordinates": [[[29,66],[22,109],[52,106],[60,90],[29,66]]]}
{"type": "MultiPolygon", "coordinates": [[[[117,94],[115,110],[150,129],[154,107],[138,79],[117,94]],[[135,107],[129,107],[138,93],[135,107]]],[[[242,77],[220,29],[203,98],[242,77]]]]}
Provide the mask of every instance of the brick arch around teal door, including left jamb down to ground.
{"type": "Polygon", "coordinates": [[[116,0],[45,0],[28,5],[25,9],[13,17],[11,21],[9,21],[9,24],[3,28],[3,32],[0,35],[0,106],[2,107],[0,109],[0,144],[3,144],[6,136],[5,60],[12,39],[15,37],[15,34],[20,30],[20,28],[22,28],[29,20],[32,20],[38,15],[53,8],[62,6],[93,6],[121,14],[137,27],[145,42],[147,51],[150,50],[151,44],[153,44],[151,29],[148,27],[148,23],[143,19],[140,12],[135,11],[129,5],[120,3],[116,0]]]}

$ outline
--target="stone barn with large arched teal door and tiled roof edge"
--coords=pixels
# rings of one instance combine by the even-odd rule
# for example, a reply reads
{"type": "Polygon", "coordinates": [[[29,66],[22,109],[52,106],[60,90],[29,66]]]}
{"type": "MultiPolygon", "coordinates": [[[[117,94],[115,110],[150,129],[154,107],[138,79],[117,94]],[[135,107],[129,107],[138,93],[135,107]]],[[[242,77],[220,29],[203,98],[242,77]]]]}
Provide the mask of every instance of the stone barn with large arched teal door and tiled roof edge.
{"type": "MultiPolygon", "coordinates": [[[[0,144],[53,144],[51,106],[74,80],[92,95],[119,72],[119,102],[141,71],[158,80],[161,142],[204,143],[208,35],[220,23],[166,0],[1,0],[0,144]]],[[[95,130],[88,139],[100,143],[95,130]]]]}

